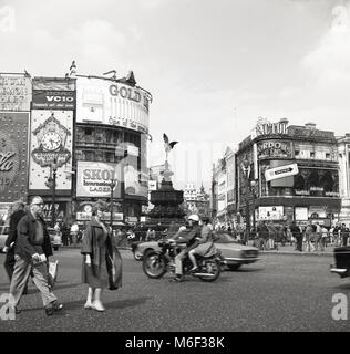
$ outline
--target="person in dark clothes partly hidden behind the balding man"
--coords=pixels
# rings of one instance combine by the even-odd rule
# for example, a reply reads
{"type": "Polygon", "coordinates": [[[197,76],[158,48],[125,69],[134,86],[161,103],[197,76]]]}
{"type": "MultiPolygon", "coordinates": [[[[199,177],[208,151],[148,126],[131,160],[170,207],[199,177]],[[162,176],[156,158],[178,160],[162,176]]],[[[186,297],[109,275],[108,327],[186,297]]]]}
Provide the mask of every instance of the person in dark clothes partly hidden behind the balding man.
{"type": "Polygon", "coordinates": [[[4,269],[8,273],[8,277],[11,281],[12,274],[13,274],[13,268],[14,268],[14,243],[17,240],[17,226],[20,219],[25,215],[24,211],[24,202],[19,200],[14,201],[12,205],[12,214],[10,217],[10,225],[9,225],[9,236],[4,242],[4,252],[6,260],[4,260],[4,269]]]}

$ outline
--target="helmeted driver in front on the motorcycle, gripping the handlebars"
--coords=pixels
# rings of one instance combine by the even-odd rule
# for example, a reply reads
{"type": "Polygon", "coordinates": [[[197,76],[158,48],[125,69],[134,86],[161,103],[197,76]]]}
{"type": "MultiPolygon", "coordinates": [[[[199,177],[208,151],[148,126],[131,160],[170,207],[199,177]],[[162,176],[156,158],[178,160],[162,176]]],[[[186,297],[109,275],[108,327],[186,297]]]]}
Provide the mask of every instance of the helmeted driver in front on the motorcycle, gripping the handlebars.
{"type": "Polygon", "coordinates": [[[183,260],[186,254],[195,248],[198,242],[196,238],[200,238],[199,217],[196,214],[191,215],[187,218],[187,228],[182,228],[174,235],[173,239],[169,239],[171,243],[186,243],[186,247],[175,257],[175,278],[172,281],[182,282],[183,277],[183,260]]]}

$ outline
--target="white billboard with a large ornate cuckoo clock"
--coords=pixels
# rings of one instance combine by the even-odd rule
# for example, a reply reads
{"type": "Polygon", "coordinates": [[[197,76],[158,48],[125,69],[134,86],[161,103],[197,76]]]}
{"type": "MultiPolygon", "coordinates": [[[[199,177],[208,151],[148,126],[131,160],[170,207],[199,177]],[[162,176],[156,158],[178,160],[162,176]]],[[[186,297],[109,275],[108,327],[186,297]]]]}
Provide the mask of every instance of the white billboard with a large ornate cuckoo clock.
{"type": "Polygon", "coordinates": [[[49,189],[56,167],[56,189],[70,190],[73,111],[33,110],[31,115],[29,189],[49,189]]]}

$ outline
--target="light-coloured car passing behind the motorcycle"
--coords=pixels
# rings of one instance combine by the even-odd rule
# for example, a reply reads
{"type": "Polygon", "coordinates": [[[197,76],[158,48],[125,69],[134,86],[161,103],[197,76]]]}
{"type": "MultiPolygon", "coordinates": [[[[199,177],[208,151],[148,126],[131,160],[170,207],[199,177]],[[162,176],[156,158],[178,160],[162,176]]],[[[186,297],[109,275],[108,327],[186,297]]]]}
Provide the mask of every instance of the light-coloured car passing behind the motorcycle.
{"type": "MultiPolygon", "coordinates": [[[[222,264],[229,270],[237,270],[241,264],[249,264],[258,261],[260,258],[259,250],[256,247],[245,246],[235,240],[227,232],[216,232],[214,235],[214,243],[222,257],[222,264]]],[[[159,251],[158,241],[133,242],[131,250],[135,260],[141,261],[146,252],[159,251]]]]}

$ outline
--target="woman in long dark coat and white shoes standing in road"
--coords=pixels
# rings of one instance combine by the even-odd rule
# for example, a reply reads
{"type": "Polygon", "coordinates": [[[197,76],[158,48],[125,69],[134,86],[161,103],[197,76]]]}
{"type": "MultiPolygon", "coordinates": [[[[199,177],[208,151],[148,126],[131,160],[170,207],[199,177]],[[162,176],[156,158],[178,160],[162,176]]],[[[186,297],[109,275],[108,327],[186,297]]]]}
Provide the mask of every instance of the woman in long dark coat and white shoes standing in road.
{"type": "Polygon", "coordinates": [[[102,290],[122,285],[122,258],[112,241],[109,227],[101,220],[103,207],[95,204],[82,240],[82,282],[89,284],[85,309],[104,311],[102,290]]]}

